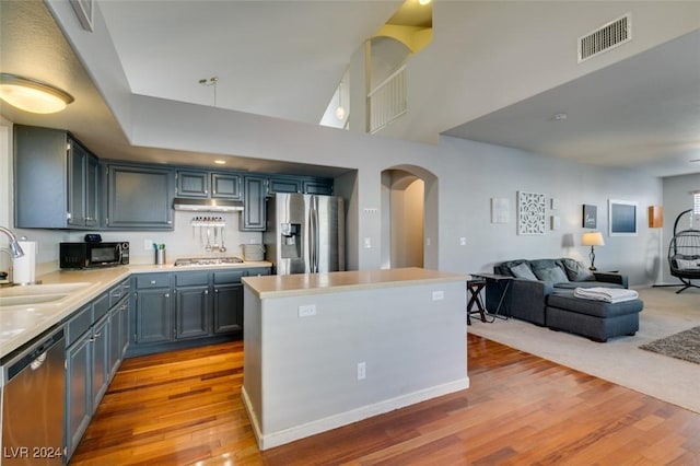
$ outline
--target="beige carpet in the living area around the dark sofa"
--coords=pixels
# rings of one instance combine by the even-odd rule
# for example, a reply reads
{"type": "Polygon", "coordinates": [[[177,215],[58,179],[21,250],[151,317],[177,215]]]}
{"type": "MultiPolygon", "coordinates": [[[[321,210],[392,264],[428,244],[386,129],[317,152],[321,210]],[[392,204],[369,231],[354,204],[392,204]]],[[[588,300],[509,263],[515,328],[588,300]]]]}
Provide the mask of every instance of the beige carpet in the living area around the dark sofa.
{"type": "Polygon", "coordinates": [[[633,337],[596,343],[527,322],[472,318],[467,331],[700,412],[700,365],[639,349],[640,345],[700,325],[700,290],[638,288],[644,301],[633,337]]]}

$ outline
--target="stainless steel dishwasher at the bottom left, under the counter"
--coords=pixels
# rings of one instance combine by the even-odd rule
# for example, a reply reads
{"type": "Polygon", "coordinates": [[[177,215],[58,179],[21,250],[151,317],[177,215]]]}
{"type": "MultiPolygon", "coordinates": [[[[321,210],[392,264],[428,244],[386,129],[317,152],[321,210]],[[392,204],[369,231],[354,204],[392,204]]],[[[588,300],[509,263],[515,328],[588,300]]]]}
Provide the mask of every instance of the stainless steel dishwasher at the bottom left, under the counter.
{"type": "Polygon", "coordinates": [[[48,331],[8,354],[2,366],[2,456],[7,465],[63,463],[66,340],[48,331]]]}

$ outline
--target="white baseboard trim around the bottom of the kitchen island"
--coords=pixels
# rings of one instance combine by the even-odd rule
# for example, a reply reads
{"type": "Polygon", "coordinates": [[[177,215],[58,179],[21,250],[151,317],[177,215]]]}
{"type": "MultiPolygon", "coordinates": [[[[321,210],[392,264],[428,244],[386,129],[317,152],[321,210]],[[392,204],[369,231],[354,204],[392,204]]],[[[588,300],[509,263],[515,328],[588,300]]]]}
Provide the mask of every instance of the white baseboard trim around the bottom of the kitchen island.
{"type": "Polygon", "coordinates": [[[454,382],[436,385],[407,395],[397,396],[395,398],[385,399],[372,405],[362,406],[345,412],[338,412],[326,418],[317,419],[311,422],[295,426],[293,428],[283,429],[277,432],[269,432],[266,434],[264,434],[260,430],[257,415],[253,409],[253,405],[250,404],[250,398],[248,397],[248,394],[245,389],[245,385],[241,389],[241,394],[246,412],[248,413],[248,418],[250,419],[250,423],[253,424],[253,432],[255,433],[255,438],[258,442],[258,447],[260,450],[267,450],[293,442],[295,440],[304,439],[310,435],[315,435],[317,433],[347,426],[352,422],[361,421],[373,416],[405,408],[407,406],[436,398],[439,396],[447,395],[454,392],[459,392],[465,388],[469,388],[468,376],[454,382]]]}

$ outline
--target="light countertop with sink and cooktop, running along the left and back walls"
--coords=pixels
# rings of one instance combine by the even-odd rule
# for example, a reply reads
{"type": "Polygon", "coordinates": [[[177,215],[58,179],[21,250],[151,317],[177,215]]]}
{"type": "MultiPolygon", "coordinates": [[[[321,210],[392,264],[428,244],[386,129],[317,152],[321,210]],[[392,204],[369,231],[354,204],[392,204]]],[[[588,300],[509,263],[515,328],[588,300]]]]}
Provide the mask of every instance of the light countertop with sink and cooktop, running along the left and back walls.
{"type": "MultiPolygon", "coordinates": [[[[90,270],[56,270],[37,277],[43,284],[88,283],[66,298],[34,305],[0,306],[0,358],[66,321],[80,306],[89,303],[132,273],[271,267],[268,261],[174,267],[165,265],[129,265],[90,270]]],[[[31,287],[31,286],[30,286],[31,287]]],[[[12,287],[15,290],[19,287],[12,287]]],[[[7,289],[5,289],[7,290],[7,289]]],[[[0,302],[2,298],[0,296],[0,302]]]]}

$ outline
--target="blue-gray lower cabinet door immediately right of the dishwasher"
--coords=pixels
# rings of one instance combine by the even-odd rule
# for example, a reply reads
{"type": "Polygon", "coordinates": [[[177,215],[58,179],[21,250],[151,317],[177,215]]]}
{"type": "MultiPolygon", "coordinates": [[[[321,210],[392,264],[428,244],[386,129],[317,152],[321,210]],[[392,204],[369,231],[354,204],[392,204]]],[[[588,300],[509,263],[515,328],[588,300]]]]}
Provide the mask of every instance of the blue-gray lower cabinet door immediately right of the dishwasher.
{"type": "Polygon", "coordinates": [[[66,447],[70,457],[92,417],[92,334],[86,331],[66,352],[66,447]]]}

